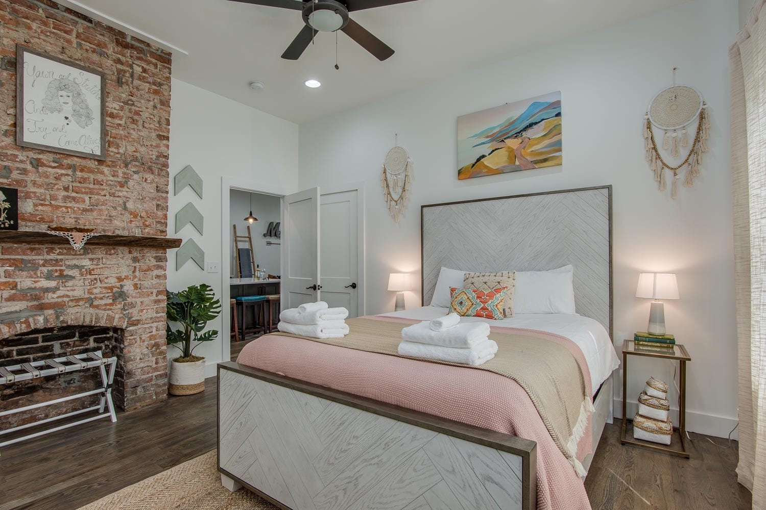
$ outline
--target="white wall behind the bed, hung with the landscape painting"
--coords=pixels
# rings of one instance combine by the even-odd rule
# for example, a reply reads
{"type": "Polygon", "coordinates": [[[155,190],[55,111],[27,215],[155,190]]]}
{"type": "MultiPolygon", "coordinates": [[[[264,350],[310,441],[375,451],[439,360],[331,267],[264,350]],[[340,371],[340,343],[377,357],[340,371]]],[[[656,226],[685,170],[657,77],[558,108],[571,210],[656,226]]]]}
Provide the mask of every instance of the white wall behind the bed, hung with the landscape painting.
{"type": "MultiPolygon", "coordinates": [[[[647,325],[649,302],[633,297],[638,273],[678,273],[682,299],[666,303],[666,317],[692,356],[689,427],[728,434],[737,363],[727,54],[737,25],[735,0],[689,2],[301,125],[302,189],[368,183],[368,313],[393,310],[388,273],[411,271],[419,285],[422,204],[613,184],[615,343],[647,325]],[[679,83],[702,91],[712,120],[702,176],[676,201],[657,190],[642,138],[647,103],[671,85],[674,66],[679,83]],[[459,115],[555,90],[563,98],[563,167],[457,180],[459,115]],[[412,200],[398,226],[379,181],[394,132],[414,160],[412,200]]],[[[419,290],[407,301],[419,306],[419,290]]],[[[673,375],[669,362],[641,361],[630,368],[631,400],[648,375],[673,375]]]]}

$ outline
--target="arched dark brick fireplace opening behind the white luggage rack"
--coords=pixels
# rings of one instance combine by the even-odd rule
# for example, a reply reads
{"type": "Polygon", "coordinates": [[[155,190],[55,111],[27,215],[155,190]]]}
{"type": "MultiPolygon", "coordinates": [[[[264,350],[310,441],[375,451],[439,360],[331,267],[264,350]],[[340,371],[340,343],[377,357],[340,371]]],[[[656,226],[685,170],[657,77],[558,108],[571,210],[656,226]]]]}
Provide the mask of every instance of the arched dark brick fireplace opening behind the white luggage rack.
{"type": "MultiPolygon", "coordinates": [[[[122,407],[118,388],[122,386],[122,349],[125,330],[100,326],[61,326],[32,330],[0,339],[0,366],[8,367],[43,359],[75,356],[84,352],[101,351],[104,358],[117,356],[114,378],[115,404],[122,407]],[[118,382],[120,384],[118,384],[118,382]]],[[[98,369],[78,370],[60,375],[33,378],[28,381],[0,385],[0,411],[16,409],[56,398],[76,395],[102,386],[98,369]]],[[[99,401],[99,395],[90,395],[52,404],[18,414],[0,417],[0,430],[29,424],[34,421],[60,416],[70,411],[90,408],[99,401]]]]}

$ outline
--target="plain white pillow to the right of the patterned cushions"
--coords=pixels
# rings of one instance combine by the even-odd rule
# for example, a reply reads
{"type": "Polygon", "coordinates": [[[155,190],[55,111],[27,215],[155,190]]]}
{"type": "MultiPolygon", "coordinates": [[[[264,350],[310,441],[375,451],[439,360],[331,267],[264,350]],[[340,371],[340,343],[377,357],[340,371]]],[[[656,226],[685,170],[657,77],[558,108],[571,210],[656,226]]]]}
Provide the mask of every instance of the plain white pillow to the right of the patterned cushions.
{"type": "Polygon", "coordinates": [[[513,313],[575,313],[575,268],[516,271],[513,313]]]}

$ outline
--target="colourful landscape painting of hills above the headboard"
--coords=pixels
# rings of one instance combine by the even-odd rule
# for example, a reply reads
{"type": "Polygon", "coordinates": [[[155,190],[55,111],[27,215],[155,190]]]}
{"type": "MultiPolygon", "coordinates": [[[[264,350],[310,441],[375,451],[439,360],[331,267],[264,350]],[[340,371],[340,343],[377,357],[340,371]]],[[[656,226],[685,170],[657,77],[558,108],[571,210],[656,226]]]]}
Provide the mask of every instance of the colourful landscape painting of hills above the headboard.
{"type": "Polygon", "coordinates": [[[457,119],[457,178],[561,164],[561,92],[457,119]]]}

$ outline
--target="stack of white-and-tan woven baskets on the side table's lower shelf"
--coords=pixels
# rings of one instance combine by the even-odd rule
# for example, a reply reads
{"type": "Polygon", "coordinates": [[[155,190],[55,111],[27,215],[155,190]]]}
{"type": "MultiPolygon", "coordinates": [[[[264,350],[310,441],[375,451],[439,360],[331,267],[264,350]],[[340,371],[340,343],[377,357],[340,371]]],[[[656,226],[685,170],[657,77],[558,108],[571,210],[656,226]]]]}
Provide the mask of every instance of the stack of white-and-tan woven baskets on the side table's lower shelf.
{"type": "Polygon", "coordinates": [[[670,444],[673,422],[670,421],[668,385],[650,377],[638,395],[638,413],[633,418],[633,437],[652,443],[670,444]]]}

